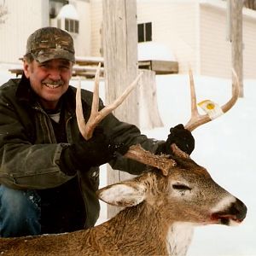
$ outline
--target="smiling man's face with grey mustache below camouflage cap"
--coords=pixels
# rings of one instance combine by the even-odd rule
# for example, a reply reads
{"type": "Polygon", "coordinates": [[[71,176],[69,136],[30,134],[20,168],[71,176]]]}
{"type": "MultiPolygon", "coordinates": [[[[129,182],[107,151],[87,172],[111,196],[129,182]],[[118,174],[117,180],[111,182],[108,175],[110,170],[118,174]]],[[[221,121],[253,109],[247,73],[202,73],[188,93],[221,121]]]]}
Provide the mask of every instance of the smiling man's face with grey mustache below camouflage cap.
{"type": "Polygon", "coordinates": [[[44,108],[54,109],[67,91],[72,76],[73,62],[55,59],[39,63],[24,61],[24,73],[30,80],[32,90],[39,96],[44,108]]]}

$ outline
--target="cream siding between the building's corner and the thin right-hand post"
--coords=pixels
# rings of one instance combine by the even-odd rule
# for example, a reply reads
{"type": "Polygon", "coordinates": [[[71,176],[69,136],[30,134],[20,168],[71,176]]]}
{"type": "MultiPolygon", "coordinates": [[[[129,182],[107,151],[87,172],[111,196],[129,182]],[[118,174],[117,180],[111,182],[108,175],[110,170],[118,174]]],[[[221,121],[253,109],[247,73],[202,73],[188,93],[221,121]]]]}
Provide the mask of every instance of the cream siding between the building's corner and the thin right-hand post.
{"type": "Polygon", "coordinates": [[[200,8],[200,52],[202,75],[228,78],[231,74],[231,48],[226,40],[224,9],[202,5],[200,8]]]}

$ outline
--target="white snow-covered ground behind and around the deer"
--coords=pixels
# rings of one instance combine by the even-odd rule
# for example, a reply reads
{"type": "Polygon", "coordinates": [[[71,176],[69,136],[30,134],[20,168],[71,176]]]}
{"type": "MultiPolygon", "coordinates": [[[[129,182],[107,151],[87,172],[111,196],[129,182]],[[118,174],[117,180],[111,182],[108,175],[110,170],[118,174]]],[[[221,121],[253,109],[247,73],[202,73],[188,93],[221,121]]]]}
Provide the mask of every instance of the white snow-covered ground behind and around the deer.
{"type": "MultiPolygon", "coordinates": [[[[13,75],[1,72],[0,84],[13,75]]],[[[166,139],[171,126],[189,119],[189,79],[187,75],[157,76],[157,97],[164,127],[145,130],[148,137],[166,139]]],[[[73,80],[72,84],[77,84],[73,80]]],[[[92,88],[92,83],[82,82],[92,88]]],[[[230,97],[230,80],[195,77],[198,101],[211,99],[222,105],[230,97]]],[[[103,83],[101,96],[104,98],[103,83]]],[[[244,82],[244,97],[229,113],[193,131],[195,150],[191,157],[207,167],[213,179],[247,205],[247,218],[236,227],[212,225],[195,228],[189,256],[256,255],[256,81],[244,82]]],[[[104,166],[101,186],[106,184],[104,166]]],[[[102,203],[101,221],[106,218],[102,203]]]]}

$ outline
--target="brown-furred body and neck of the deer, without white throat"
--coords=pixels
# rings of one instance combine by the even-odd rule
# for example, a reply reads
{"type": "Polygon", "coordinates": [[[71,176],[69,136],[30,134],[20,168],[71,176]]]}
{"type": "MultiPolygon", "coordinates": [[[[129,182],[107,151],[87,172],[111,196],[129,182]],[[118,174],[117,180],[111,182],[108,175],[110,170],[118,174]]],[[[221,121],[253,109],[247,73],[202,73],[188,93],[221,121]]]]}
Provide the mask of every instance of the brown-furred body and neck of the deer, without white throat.
{"type": "MultiPolygon", "coordinates": [[[[160,230],[163,227],[162,221],[154,219],[154,215],[150,218],[149,224],[148,218],[147,223],[142,221],[145,216],[130,219],[134,211],[139,213],[142,208],[144,206],[127,208],[126,211],[119,212],[110,221],[90,230],[79,230],[60,235],[2,238],[0,253],[7,256],[168,255],[169,243],[166,243],[168,228],[160,230]]],[[[151,211],[149,210],[149,212],[151,211]]],[[[185,248],[187,248],[187,244],[185,248]]],[[[177,244],[175,249],[179,249],[177,244]]],[[[173,252],[170,255],[184,254],[173,252]]]]}

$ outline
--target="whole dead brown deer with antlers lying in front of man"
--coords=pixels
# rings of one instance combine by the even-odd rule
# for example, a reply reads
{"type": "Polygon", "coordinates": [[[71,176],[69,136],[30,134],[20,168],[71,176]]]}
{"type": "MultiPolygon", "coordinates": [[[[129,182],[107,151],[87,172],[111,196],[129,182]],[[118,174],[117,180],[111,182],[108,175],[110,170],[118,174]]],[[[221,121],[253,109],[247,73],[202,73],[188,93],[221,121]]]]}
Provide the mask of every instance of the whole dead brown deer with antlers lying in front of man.
{"type": "MultiPolygon", "coordinates": [[[[96,84],[97,79],[96,75],[96,84]]],[[[190,85],[193,95],[191,73],[190,85]]],[[[224,112],[235,104],[237,96],[238,82],[230,102],[222,108],[224,112]]],[[[77,108],[79,127],[85,139],[92,136],[96,124],[123,100],[98,113],[97,97],[96,89],[91,119],[86,125],[81,105],[77,108]]],[[[77,102],[80,102],[79,90],[77,102]]],[[[192,118],[186,125],[190,131],[211,120],[197,112],[195,102],[194,96],[192,118]]],[[[215,183],[204,167],[197,165],[175,144],[172,144],[172,151],[172,156],[154,155],[138,145],[131,146],[125,157],[153,167],[139,177],[98,190],[102,201],[125,207],[107,222],[89,230],[60,235],[2,238],[0,254],[185,255],[195,225],[240,224],[246,217],[247,207],[215,183]]]]}

